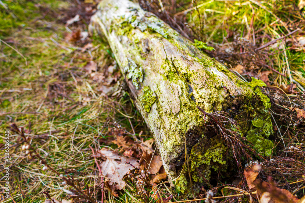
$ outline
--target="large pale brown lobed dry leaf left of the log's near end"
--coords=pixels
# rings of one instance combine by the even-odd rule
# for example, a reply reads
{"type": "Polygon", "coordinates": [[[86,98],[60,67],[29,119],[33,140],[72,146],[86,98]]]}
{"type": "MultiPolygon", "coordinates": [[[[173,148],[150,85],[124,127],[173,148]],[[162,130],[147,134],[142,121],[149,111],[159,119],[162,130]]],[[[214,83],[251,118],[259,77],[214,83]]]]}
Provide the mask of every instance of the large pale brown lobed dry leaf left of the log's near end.
{"type": "Polygon", "coordinates": [[[129,169],[133,169],[131,165],[125,162],[129,162],[135,167],[140,166],[136,159],[120,156],[117,152],[105,147],[100,149],[98,154],[106,158],[106,161],[100,164],[102,175],[109,179],[110,187],[114,187],[114,184],[116,184],[115,188],[118,190],[125,187],[126,183],[123,178],[127,173],[129,173],[129,169]]]}

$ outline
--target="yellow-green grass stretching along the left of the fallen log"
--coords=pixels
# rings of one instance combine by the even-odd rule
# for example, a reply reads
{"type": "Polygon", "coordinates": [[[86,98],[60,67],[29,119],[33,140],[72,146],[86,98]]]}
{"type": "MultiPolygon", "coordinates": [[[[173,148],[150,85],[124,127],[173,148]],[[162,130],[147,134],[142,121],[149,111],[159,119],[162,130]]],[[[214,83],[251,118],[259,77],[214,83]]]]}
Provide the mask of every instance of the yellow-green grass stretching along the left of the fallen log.
{"type": "MultiPolygon", "coordinates": [[[[8,9],[2,9],[0,16],[0,39],[7,42],[0,44],[0,130],[8,130],[12,122],[23,126],[40,155],[48,154],[46,161],[50,166],[62,174],[66,171],[73,175],[94,190],[96,196],[100,178],[89,146],[100,149],[104,143],[99,140],[107,139],[108,129],[115,121],[131,131],[129,121],[119,111],[134,115],[131,120],[137,132],[145,130],[142,117],[126,94],[118,102],[103,96],[96,91],[99,84],[83,71],[83,66],[92,59],[79,47],[91,40],[80,44],[64,40],[66,29],[61,18],[64,10],[73,7],[71,2],[2,2],[8,9]],[[41,17],[44,11],[51,15],[41,17]]],[[[82,27],[72,26],[77,28],[82,27]]],[[[106,44],[96,45],[92,54],[100,57],[93,60],[99,63],[102,72],[103,66],[113,64],[114,59],[106,44]]],[[[37,159],[21,151],[21,138],[12,131],[10,135],[11,198],[4,202],[44,202],[44,191],[57,200],[68,198],[63,189],[69,190],[69,186],[63,185],[50,170],[41,170],[37,159]]],[[[1,134],[1,143],[3,139],[1,134]]],[[[1,164],[3,161],[0,160],[1,164]]]]}

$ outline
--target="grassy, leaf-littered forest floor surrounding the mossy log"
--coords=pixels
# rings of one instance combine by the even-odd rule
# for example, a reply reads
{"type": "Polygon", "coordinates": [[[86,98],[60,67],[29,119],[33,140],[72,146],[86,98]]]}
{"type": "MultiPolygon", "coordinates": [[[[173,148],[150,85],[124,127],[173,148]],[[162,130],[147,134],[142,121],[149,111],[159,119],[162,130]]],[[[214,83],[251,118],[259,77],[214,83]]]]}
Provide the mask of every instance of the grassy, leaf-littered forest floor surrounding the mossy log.
{"type": "MultiPolygon", "coordinates": [[[[227,180],[212,185],[215,195],[222,196],[221,186],[248,191],[258,176],[286,189],[288,196],[303,197],[305,2],[149,2],[140,0],[143,9],[154,12],[185,37],[213,46],[215,51],[208,54],[239,77],[247,81],[255,77],[267,84],[263,92],[271,99],[272,141],[277,147],[266,158],[265,171],[257,174],[250,168],[245,174],[236,174],[243,184],[227,180]],[[249,173],[253,174],[247,176],[249,173]]],[[[54,202],[87,202],[86,197],[97,202],[162,202],[138,194],[132,174],[127,177],[132,167],[124,165],[117,174],[120,184],[102,178],[110,173],[103,168],[109,160],[106,155],[122,163],[138,160],[141,169],[151,162],[159,172],[151,177],[155,184],[165,181],[166,173],[111,49],[102,38],[88,35],[97,3],[0,1],[0,165],[9,164],[10,188],[7,198],[2,168],[2,202],[50,202],[45,200],[48,195],[54,202]],[[12,123],[24,132],[14,132],[9,128],[12,123]],[[5,160],[7,131],[9,160],[5,160]],[[24,140],[18,134],[29,138],[24,140]],[[96,163],[101,163],[103,176],[96,163]]],[[[196,196],[205,198],[205,189],[196,196]]],[[[162,184],[157,194],[163,198],[173,195],[171,201],[187,199],[168,183],[162,184]]],[[[235,202],[238,198],[221,200],[235,202]]],[[[248,201],[246,197],[241,200],[248,201]]]]}

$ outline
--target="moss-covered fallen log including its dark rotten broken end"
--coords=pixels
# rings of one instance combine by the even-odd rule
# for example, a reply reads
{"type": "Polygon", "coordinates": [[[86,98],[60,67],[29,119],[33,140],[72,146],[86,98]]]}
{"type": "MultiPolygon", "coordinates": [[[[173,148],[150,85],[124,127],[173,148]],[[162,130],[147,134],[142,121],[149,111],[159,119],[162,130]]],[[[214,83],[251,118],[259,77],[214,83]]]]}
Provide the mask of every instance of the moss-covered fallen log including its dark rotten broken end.
{"type": "Polygon", "coordinates": [[[178,177],[182,170],[175,183],[179,190],[189,191],[186,168],[191,179],[202,185],[212,172],[229,170],[233,155],[227,151],[235,150],[217,136],[220,129],[205,125],[210,118],[196,105],[205,112],[226,111],[241,126],[240,130],[230,124],[226,128],[238,131],[263,155],[271,154],[270,100],[257,87],[264,82],[239,79],[200,50],[203,43],[187,40],[128,0],[100,2],[89,30],[107,39],[130,96],[154,135],[169,178],[178,177]]]}

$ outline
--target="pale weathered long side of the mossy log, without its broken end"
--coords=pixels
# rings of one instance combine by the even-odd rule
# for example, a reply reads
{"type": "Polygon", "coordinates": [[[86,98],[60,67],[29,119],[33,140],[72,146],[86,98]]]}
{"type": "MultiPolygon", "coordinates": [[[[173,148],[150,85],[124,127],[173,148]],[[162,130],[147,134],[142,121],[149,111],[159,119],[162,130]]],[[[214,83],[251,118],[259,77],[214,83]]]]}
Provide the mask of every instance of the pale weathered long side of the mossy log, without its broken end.
{"type": "Polygon", "coordinates": [[[241,118],[245,132],[253,112],[264,107],[246,82],[137,3],[103,0],[90,30],[109,42],[170,178],[185,163],[185,145],[190,153],[203,137],[204,118],[196,105],[241,118]]]}

